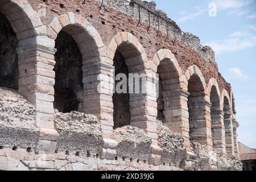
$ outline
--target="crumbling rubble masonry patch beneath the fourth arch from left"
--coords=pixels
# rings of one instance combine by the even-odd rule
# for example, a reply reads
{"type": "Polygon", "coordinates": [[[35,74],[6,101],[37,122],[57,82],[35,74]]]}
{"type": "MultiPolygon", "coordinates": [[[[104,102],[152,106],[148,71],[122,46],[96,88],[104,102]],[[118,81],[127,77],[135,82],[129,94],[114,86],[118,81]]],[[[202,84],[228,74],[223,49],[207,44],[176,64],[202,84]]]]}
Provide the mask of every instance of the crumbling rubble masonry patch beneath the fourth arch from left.
{"type": "Polygon", "coordinates": [[[179,167],[187,154],[184,139],[177,136],[162,122],[158,121],[157,123],[159,146],[163,148],[162,163],[179,167]]]}

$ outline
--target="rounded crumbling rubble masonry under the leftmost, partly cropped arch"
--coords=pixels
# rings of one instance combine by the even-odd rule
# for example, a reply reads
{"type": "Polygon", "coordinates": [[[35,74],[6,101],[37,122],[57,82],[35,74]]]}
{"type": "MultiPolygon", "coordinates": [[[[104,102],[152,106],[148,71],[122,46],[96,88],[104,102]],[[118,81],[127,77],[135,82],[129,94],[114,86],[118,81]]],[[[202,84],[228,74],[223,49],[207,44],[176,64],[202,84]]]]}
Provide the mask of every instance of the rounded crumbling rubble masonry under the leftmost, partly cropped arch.
{"type": "Polygon", "coordinates": [[[35,107],[14,89],[0,87],[0,146],[35,147],[35,107]]]}

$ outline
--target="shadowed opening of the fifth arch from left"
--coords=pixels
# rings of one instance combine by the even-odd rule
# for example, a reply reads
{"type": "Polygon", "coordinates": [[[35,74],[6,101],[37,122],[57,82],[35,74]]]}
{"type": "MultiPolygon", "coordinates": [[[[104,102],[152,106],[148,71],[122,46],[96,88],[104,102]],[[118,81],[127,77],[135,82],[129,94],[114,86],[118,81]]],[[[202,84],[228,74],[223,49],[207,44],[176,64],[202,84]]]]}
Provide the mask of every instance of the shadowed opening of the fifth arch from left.
{"type": "Polygon", "coordinates": [[[204,86],[197,75],[188,81],[189,140],[207,143],[207,122],[205,120],[204,86]]]}

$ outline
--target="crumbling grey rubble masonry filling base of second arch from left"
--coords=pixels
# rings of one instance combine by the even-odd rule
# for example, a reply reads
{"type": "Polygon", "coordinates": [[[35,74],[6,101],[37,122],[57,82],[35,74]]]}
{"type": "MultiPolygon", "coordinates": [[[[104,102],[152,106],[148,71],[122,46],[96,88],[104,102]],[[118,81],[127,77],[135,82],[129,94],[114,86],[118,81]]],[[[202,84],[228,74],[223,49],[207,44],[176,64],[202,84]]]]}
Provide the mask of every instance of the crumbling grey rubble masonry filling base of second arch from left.
{"type": "Polygon", "coordinates": [[[77,155],[100,154],[103,139],[101,126],[95,116],[77,111],[59,113],[55,110],[55,127],[60,135],[57,151],[68,151],[77,155]]]}

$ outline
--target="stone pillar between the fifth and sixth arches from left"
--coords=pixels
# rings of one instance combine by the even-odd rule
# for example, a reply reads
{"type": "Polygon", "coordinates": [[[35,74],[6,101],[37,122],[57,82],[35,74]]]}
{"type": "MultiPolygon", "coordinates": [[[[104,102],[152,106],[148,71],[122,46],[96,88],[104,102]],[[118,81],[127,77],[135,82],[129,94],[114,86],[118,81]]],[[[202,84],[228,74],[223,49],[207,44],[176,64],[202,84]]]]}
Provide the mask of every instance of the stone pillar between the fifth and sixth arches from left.
{"type": "Polygon", "coordinates": [[[212,150],[212,131],[210,125],[210,107],[207,101],[189,102],[189,138],[212,150]]]}

